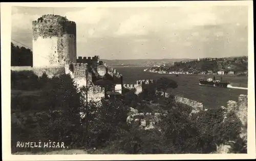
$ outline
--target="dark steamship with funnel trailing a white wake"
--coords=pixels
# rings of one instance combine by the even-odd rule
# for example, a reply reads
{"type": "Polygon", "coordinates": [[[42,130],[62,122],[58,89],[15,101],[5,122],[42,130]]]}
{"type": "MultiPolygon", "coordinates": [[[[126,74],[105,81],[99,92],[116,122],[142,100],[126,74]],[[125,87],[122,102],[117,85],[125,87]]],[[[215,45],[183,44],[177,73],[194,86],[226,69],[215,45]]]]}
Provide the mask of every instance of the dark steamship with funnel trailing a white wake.
{"type": "Polygon", "coordinates": [[[227,88],[227,86],[230,84],[230,82],[222,81],[222,77],[220,80],[216,80],[215,76],[213,78],[207,78],[207,79],[199,79],[200,84],[204,86],[211,86],[211,87],[224,87],[227,88]]]}

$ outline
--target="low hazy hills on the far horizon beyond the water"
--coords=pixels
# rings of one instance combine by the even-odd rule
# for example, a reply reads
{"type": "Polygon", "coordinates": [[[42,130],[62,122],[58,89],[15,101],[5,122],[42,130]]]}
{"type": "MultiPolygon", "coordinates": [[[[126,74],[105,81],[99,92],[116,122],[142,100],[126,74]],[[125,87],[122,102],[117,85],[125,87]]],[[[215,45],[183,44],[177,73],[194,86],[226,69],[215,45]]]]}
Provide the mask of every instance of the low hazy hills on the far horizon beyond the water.
{"type": "Polygon", "coordinates": [[[101,59],[100,61],[105,62],[108,65],[112,66],[139,66],[139,67],[151,67],[151,66],[160,66],[160,65],[173,65],[174,62],[187,62],[194,59],[130,59],[130,60],[105,60],[101,59]]]}

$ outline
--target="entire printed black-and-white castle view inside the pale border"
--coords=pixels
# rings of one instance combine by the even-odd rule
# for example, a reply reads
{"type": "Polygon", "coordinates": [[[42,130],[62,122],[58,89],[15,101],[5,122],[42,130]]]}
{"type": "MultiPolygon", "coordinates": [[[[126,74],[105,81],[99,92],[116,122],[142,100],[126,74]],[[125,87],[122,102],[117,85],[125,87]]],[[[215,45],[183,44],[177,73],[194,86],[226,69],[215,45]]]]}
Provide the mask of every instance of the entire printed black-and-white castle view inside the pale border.
{"type": "Polygon", "coordinates": [[[11,153],[248,153],[248,10],[12,6],[11,153]]]}

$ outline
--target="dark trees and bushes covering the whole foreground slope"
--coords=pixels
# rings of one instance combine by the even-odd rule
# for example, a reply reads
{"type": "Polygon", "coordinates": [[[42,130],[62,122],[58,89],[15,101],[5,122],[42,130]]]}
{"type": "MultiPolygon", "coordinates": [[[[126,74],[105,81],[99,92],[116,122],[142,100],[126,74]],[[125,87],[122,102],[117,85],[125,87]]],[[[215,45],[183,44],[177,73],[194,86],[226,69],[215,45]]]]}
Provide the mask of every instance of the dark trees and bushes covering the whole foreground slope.
{"type": "MultiPolygon", "coordinates": [[[[18,124],[12,119],[12,152],[54,150],[15,147],[17,141],[54,140],[73,149],[85,149],[88,142],[89,153],[210,153],[216,150],[216,144],[239,140],[241,123],[235,115],[222,122],[223,109],[216,108],[190,118],[189,106],[173,101],[173,96],[155,94],[154,89],[165,92],[166,88],[177,87],[176,82],[166,78],[158,81],[164,86],[152,85],[139,95],[125,90],[123,99],[102,100],[102,105],[89,102],[88,120],[80,120],[79,115],[86,111],[82,95],[86,89],[77,93],[69,75],[48,78],[45,74],[37,77],[30,72],[12,71],[11,82],[11,112],[23,120],[18,124]],[[159,105],[155,108],[148,101],[159,105]],[[127,124],[131,106],[143,113],[167,113],[158,122],[162,130],[143,130],[138,124],[127,124]]],[[[244,144],[241,140],[234,144],[234,152],[246,153],[244,144]]]]}

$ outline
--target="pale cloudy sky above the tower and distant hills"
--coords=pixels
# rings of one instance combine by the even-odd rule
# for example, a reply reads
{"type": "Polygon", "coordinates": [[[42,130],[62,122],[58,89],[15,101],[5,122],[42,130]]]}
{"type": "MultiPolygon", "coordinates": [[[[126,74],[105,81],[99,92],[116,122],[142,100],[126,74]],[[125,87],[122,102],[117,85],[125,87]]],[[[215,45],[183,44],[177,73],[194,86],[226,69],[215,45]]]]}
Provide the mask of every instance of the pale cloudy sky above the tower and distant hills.
{"type": "Polygon", "coordinates": [[[32,21],[45,14],[67,16],[76,22],[77,57],[98,55],[113,60],[248,55],[247,6],[12,7],[12,40],[32,48],[32,21]]]}

